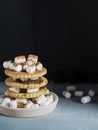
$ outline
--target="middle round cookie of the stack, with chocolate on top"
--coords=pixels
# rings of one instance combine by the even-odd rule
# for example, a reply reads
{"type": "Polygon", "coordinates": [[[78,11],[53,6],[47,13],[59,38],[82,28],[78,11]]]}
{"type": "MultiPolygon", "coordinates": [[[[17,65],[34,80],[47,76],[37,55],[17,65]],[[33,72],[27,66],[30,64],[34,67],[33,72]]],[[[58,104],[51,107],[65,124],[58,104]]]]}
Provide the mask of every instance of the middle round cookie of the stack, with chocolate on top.
{"type": "Polygon", "coordinates": [[[41,78],[42,78],[43,81],[40,84],[22,84],[22,83],[17,83],[11,77],[8,77],[5,80],[5,84],[7,86],[15,87],[15,88],[24,88],[24,89],[40,88],[40,87],[45,86],[48,83],[48,80],[45,77],[41,77],[41,78]]]}

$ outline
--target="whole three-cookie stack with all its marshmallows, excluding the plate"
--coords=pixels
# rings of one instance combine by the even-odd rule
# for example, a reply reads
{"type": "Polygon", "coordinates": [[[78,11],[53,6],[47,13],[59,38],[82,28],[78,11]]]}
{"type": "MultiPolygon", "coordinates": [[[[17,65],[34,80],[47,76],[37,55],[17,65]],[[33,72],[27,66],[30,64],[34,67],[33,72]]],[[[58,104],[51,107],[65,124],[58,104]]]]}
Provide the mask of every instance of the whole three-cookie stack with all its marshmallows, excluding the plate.
{"type": "Polygon", "coordinates": [[[5,84],[9,86],[1,104],[10,108],[33,109],[49,105],[54,101],[53,95],[46,88],[48,80],[43,64],[38,56],[17,56],[14,60],[3,62],[5,74],[9,76],[5,84]]]}

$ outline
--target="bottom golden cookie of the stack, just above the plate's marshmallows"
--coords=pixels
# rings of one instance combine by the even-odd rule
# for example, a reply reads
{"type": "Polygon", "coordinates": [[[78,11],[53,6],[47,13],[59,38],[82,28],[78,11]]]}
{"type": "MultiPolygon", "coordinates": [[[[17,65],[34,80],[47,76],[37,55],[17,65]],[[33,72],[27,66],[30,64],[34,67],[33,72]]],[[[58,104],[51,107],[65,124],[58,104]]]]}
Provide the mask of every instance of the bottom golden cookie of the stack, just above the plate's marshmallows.
{"type": "Polygon", "coordinates": [[[15,93],[10,90],[7,90],[8,96],[13,97],[13,98],[27,98],[27,99],[36,98],[36,97],[39,97],[39,96],[41,96],[43,94],[47,94],[47,93],[49,93],[49,90],[45,87],[41,88],[37,92],[32,92],[32,93],[15,93]]]}

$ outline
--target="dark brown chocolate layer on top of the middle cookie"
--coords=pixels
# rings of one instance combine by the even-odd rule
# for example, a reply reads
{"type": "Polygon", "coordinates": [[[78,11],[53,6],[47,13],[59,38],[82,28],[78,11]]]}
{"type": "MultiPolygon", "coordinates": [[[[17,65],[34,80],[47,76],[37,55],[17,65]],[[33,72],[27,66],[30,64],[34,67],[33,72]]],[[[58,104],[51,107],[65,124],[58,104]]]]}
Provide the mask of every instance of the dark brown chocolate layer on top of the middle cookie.
{"type": "Polygon", "coordinates": [[[39,79],[37,80],[30,80],[28,79],[27,81],[22,81],[20,79],[16,79],[17,83],[22,83],[22,84],[40,84],[41,82],[43,82],[42,78],[39,77],[39,79]]]}

